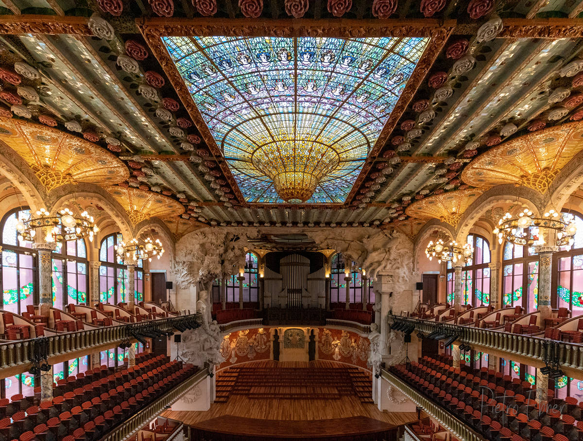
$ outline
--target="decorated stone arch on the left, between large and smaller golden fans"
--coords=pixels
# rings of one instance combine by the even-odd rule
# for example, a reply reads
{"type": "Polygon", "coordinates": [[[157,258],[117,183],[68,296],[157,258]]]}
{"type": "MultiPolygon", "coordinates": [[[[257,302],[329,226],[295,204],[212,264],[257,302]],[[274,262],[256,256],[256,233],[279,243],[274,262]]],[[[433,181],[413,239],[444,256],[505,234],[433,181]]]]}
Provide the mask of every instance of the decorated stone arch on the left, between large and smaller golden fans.
{"type": "Polygon", "coordinates": [[[124,240],[131,240],[133,227],[124,208],[107,191],[100,186],[89,183],[66,184],[49,193],[47,198],[48,211],[55,212],[69,201],[77,198],[83,202],[95,201],[110,215],[119,227],[124,240]]]}

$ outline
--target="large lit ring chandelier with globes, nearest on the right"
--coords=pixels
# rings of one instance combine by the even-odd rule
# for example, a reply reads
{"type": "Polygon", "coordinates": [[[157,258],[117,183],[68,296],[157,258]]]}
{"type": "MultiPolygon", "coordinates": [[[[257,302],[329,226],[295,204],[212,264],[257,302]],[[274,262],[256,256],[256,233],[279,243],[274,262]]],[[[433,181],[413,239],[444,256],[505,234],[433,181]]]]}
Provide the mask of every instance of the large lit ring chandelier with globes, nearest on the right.
{"type": "Polygon", "coordinates": [[[515,245],[529,247],[544,245],[544,236],[550,237],[550,234],[555,234],[556,245],[564,246],[573,244],[577,225],[573,215],[570,214],[561,215],[551,209],[542,217],[537,217],[531,210],[525,208],[516,216],[506,213],[498,220],[498,226],[493,232],[497,234],[500,244],[505,240],[515,245]]]}

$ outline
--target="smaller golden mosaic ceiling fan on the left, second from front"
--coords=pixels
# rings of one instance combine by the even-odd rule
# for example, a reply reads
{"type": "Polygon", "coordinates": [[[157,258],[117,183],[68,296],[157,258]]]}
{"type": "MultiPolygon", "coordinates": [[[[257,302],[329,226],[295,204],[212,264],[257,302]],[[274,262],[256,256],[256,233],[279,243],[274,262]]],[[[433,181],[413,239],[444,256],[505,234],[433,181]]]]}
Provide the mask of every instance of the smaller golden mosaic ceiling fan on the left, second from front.
{"type": "Polygon", "coordinates": [[[116,186],[106,187],[106,190],[124,207],[134,225],[153,217],[165,218],[184,213],[180,202],[152,191],[116,186]]]}

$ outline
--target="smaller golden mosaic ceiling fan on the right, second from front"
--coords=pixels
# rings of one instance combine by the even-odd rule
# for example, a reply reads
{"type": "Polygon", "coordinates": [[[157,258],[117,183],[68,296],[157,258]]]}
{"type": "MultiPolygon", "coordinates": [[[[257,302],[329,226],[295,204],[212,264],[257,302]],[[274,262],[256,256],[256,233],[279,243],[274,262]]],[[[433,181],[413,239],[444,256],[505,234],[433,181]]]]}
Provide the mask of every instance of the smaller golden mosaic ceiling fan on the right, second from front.
{"type": "Polygon", "coordinates": [[[440,219],[455,227],[463,212],[482,194],[480,189],[449,191],[413,202],[405,209],[412,218],[440,219]]]}

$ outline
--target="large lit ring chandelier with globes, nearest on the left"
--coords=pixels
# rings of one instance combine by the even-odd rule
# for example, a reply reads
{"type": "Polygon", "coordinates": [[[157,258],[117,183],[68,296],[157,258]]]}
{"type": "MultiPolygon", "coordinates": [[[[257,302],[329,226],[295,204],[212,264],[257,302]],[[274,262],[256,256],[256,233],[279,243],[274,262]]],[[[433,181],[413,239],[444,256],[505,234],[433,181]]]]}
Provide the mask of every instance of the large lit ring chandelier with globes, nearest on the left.
{"type": "Polygon", "coordinates": [[[46,242],[77,240],[83,237],[89,237],[89,240],[93,241],[94,234],[99,232],[93,216],[86,211],[75,215],[69,208],[63,208],[58,213],[50,214],[47,209],[41,208],[35,215],[16,223],[19,240],[34,241],[39,228],[46,242]]]}

